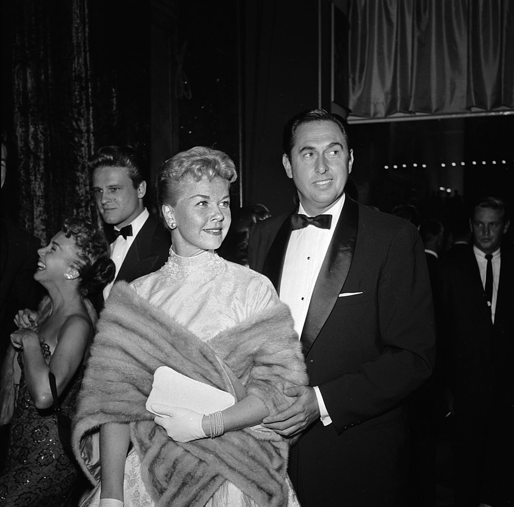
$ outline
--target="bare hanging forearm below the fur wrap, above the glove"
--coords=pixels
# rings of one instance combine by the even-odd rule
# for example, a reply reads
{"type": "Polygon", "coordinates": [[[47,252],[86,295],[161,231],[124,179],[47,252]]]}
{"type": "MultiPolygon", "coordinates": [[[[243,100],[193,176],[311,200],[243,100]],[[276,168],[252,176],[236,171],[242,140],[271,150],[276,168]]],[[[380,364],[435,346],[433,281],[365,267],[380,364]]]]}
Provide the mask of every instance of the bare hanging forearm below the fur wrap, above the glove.
{"type": "Polygon", "coordinates": [[[100,426],[100,498],[123,501],[123,475],[129,442],[128,424],[107,423],[100,426]]]}

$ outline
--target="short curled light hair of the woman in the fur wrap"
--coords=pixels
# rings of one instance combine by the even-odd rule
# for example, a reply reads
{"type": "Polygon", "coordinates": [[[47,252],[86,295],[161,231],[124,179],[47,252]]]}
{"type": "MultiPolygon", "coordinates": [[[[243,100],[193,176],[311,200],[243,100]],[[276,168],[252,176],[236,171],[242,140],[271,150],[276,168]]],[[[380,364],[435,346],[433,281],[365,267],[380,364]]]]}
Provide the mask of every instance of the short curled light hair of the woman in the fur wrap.
{"type": "Polygon", "coordinates": [[[192,176],[197,182],[204,176],[207,176],[209,181],[212,178],[221,177],[226,179],[230,185],[235,182],[237,173],[234,162],[226,153],[205,146],[195,146],[166,160],[156,178],[157,204],[166,227],[168,224],[162,216],[162,205],[175,206],[177,204],[186,176],[192,176]]]}

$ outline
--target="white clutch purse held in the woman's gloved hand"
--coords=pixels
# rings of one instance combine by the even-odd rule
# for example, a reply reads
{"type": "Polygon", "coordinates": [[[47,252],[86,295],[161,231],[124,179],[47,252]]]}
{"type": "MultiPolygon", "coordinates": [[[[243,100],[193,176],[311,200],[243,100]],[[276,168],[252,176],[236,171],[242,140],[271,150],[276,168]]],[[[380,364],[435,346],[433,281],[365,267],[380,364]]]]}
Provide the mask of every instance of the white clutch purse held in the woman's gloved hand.
{"type": "Polygon", "coordinates": [[[156,403],[209,414],[231,407],[235,398],[229,392],[196,381],[173,368],[160,366],[155,370],[145,407],[155,415],[163,415],[152,410],[152,405],[156,403]]]}

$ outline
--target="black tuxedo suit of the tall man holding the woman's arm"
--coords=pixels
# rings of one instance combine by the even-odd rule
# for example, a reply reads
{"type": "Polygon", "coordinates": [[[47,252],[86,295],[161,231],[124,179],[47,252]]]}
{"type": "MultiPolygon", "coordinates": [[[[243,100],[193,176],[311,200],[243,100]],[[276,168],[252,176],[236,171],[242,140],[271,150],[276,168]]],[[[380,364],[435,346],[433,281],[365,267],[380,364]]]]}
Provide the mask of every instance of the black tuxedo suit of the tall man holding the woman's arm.
{"type": "MultiPolygon", "coordinates": [[[[250,267],[279,294],[290,232],[289,216],[282,215],[250,233],[250,267]]],[[[319,386],[333,424],[315,423],[293,447],[289,472],[300,502],[393,505],[400,487],[389,471],[400,459],[403,433],[389,428],[405,422],[405,399],[430,376],[434,359],[430,282],[417,229],[346,195],[301,339],[310,385],[319,386]]]]}

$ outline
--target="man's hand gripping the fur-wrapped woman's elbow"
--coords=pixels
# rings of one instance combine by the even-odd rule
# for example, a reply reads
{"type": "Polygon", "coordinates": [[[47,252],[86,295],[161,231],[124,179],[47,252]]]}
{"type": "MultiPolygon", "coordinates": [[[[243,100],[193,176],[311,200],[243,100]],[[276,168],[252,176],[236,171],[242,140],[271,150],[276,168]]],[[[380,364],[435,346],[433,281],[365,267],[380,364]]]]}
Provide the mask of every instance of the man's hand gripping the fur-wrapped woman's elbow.
{"type": "Polygon", "coordinates": [[[293,437],[320,418],[318,399],[309,386],[287,387],[284,394],[296,396],[296,402],[278,414],[268,415],[263,426],[283,437],[293,437]]]}

